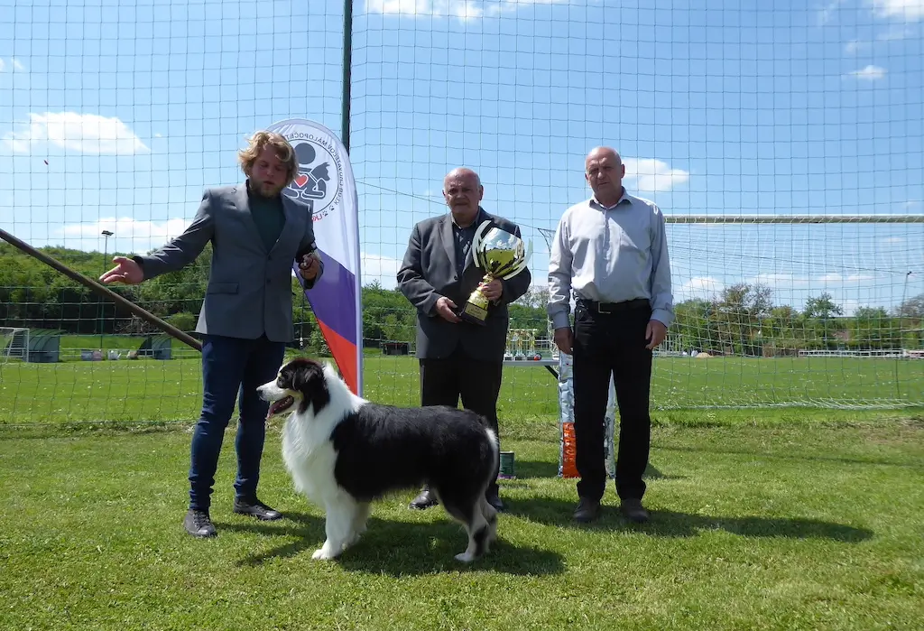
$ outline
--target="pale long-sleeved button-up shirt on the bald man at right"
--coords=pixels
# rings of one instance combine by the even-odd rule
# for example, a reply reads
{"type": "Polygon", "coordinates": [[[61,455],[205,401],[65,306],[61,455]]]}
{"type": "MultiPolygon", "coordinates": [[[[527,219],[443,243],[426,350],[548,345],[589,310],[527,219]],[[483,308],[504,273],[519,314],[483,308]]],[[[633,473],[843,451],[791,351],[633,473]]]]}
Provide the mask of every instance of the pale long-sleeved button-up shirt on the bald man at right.
{"type": "Polygon", "coordinates": [[[674,322],[671,264],[664,215],[654,202],[626,193],[609,208],[594,198],[568,208],[549,256],[549,318],[569,326],[569,300],[623,302],[646,298],[651,319],[674,322]]]}

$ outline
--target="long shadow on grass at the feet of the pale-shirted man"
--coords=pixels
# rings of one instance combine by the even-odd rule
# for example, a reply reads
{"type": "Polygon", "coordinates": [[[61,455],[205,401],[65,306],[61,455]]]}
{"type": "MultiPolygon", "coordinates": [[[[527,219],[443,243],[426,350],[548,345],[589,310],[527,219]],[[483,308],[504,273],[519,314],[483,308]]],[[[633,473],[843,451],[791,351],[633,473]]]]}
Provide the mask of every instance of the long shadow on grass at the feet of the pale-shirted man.
{"type": "Polygon", "coordinates": [[[650,510],[650,520],[635,524],[619,513],[615,503],[604,502],[599,519],[578,524],[572,519],[577,502],[549,497],[530,497],[511,503],[508,513],[553,526],[587,530],[632,529],[653,537],[696,537],[701,531],[725,530],[742,537],[783,537],[787,539],[826,539],[844,543],[869,540],[873,531],[846,524],[802,517],[690,515],[659,509],[650,510]]]}

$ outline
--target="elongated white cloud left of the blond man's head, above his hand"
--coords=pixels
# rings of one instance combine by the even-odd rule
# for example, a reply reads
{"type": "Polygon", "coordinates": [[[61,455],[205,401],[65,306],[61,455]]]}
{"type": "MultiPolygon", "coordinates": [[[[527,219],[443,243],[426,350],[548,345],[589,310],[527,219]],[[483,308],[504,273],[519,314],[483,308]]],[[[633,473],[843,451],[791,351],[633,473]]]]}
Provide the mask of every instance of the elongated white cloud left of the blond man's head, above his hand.
{"type": "Polygon", "coordinates": [[[78,112],[31,113],[29,122],[3,137],[6,146],[28,153],[33,145],[48,142],[65,149],[95,155],[131,155],[150,151],[128,126],[115,116],[106,118],[78,112]]]}

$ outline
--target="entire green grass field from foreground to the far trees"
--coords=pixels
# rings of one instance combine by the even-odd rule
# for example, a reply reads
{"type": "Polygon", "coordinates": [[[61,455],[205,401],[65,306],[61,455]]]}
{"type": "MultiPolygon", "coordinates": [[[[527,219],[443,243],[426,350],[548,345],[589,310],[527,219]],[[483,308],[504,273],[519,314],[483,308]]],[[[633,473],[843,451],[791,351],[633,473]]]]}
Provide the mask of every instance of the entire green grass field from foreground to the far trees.
{"type": "MultiPolygon", "coordinates": [[[[110,346],[119,347],[119,346],[110,346]]],[[[916,402],[924,362],[658,358],[654,402],[916,402]],[[898,380],[895,381],[895,371],[898,380]],[[897,383],[897,386],[896,386],[897,383]]],[[[418,402],[412,358],[371,356],[366,394],[418,402]]],[[[517,479],[500,541],[460,567],[461,528],[376,504],[338,563],[311,552],[322,513],[292,489],[280,422],[261,499],[231,513],[234,423],[213,495],[216,540],[181,528],[197,358],[0,366],[2,629],[920,629],[924,408],[755,407],[653,414],[649,524],[572,523],[558,478],[555,381],[505,372],[501,435],[517,479]]]]}

